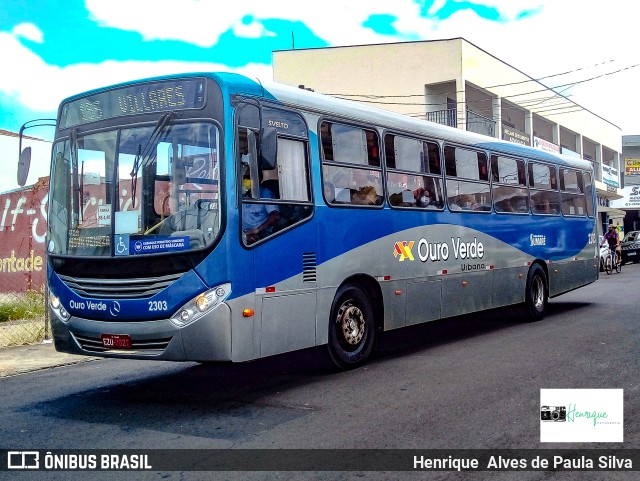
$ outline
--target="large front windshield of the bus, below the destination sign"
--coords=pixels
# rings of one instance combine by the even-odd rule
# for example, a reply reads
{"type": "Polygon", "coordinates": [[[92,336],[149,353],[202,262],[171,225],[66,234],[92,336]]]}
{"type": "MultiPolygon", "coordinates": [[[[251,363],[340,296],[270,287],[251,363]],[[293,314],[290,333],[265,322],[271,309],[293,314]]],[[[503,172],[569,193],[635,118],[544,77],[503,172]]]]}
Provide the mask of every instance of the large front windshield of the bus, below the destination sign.
{"type": "Polygon", "coordinates": [[[54,145],[50,254],[145,255],[214,242],[219,131],[168,119],[87,135],[73,129],[54,145]]]}

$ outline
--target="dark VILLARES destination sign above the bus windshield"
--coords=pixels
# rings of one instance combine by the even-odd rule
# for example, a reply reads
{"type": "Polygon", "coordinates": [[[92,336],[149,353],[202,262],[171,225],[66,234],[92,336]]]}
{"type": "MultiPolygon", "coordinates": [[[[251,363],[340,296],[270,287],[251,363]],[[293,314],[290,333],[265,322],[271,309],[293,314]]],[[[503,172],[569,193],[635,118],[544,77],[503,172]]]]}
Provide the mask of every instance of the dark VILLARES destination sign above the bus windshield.
{"type": "Polygon", "coordinates": [[[62,107],[59,128],[127,115],[200,109],[204,103],[204,79],[129,85],[67,102],[62,107]]]}

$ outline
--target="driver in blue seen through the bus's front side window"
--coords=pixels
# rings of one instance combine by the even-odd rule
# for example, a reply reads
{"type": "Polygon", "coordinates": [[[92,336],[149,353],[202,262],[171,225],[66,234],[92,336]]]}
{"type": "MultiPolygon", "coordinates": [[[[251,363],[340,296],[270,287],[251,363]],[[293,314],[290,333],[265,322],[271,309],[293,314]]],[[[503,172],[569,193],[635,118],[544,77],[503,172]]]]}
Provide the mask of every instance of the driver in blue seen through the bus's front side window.
{"type": "MultiPolygon", "coordinates": [[[[242,179],[242,198],[242,232],[247,244],[253,244],[273,232],[274,224],[280,219],[280,212],[274,204],[253,204],[244,201],[251,199],[251,179],[248,173],[242,179]]],[[[275,198],[271,190],[260,186],[260,199],[275,198]]]]}

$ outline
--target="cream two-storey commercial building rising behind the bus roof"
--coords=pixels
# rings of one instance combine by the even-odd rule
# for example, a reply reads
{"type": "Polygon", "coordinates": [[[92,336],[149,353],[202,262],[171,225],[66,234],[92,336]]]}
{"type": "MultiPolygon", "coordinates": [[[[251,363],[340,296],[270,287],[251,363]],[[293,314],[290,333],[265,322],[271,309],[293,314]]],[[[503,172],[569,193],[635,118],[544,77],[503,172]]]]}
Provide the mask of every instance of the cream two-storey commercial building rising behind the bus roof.
{"type": "MultiPolygon", "coordinates": [[[[273,52],[277,82],[590,160],[621,223],[621,129],[463,38],[273,52]]],[[[640,158],[640,157],[639,157],[640,158]]]]}

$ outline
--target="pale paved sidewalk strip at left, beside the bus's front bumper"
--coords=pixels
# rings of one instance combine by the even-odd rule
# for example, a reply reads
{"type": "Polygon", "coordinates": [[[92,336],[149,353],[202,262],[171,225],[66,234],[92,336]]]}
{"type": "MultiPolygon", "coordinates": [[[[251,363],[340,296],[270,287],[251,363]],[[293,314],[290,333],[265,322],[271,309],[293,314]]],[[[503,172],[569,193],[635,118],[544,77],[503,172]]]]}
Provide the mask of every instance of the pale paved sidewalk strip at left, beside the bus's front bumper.
{"type": "Polygon", "coordinates": [[[0,377],[16,376],[31,371],[96,359],[58,352],[52,343],[3,347],[0,348],[0,377]]]}

